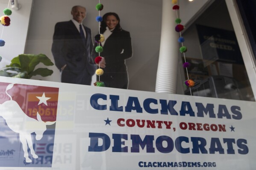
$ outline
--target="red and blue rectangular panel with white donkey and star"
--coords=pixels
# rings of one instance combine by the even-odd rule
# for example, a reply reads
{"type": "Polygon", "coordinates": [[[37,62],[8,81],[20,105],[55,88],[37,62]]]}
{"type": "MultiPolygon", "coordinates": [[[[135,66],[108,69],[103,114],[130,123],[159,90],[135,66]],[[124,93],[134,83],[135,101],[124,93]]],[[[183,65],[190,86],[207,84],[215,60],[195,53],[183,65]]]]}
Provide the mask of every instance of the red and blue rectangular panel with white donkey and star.
{"type": "Polygon", "coordinates": [[[51,167],[58,88],[0,82],[0,166],[51,167]]]}

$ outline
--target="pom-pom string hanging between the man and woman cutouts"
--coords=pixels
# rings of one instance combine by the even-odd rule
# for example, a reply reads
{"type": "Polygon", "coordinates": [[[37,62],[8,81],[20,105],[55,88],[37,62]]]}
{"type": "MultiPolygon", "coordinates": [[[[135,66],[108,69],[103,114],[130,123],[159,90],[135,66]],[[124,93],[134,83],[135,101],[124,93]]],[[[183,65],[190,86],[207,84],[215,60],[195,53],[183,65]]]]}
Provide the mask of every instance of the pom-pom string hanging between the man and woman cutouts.
{"type": "Polygon", "coordinates": [[[103,69],[100,69],[100,61],[102,60],[102,57],[100,57],[100,53],[103,52],[103,47],[100,46],[100,43],[102,43],[105,38],[102,34],[100,34],[100,23],[103,20],[103,18],[100,16],[100,11],[103,9],[103,5],[99,3],[96,5],[96,10],[99,11],[99,15],[96,17],[96,21],[99,23],[99,34],[95,35],[95,42],[97,43],[97,46],[95,48],[95,51],[99,54],[98,57],[95,58],[95,63],[99,64],[99,68],[96,70],[96,75],[99,76],[99,81],[96,81],[94,83],[94,86],[105,86],[104,82],[100,81],[100,76],[103,75],[104,71],[103,69]]]}

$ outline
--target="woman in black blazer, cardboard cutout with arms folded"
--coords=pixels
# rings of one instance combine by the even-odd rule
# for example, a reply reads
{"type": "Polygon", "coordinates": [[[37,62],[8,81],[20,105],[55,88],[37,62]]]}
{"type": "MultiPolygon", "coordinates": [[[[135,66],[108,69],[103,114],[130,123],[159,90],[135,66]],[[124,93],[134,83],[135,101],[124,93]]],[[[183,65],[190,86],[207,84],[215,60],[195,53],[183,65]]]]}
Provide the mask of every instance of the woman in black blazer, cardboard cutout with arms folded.
{"type": "MultiPolygon", "coordinates": [[[[100,61],[100,67],[104,74],[100,76],[106,87],[127,89],[128,74],[125,60],[132,57],[132,43],[129,32],[123,30],[120,26],[118,14],[109,12],[103,15],[103,21],[100,24],[100,34],[103,34],[105,41],[100,43],[103,46],[103,57],[100,61]]],[[[91,56],[95,59],[99,53],[95,52],[95,47],[91,56]]],[[[99,76],[97,76],[99,81],[99,76]]]]}

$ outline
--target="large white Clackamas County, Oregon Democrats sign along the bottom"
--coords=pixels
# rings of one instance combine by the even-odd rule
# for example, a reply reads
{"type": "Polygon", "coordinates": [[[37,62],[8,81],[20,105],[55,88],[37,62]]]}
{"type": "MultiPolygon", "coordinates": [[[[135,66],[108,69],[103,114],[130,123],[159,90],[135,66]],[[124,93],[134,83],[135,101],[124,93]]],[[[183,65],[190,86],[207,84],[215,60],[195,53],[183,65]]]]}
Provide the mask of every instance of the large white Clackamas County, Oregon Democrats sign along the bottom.
{"type": "Polygon", "coordinates": [[[0,82],[0,98],[6,98],[0,105],[0,170],[256,167],[255,102],[5,77],[0,82]],[[15,87],[24,102],[12,94],[15,87]]]}

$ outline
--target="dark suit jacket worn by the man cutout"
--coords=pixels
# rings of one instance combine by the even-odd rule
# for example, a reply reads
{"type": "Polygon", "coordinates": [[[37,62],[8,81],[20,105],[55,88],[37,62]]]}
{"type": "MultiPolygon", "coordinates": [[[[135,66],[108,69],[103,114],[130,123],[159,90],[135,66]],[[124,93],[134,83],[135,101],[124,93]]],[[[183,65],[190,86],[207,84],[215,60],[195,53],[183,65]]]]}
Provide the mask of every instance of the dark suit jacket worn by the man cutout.
{"type": "Polygon", "coordinates": [[[83,82],[79,77],[91,79],[95,72],[95,65],[90,55],[93,47],[91,30],[85,26],[84,28],[86,43],[82,41],[79,31],[71,20],[59,22],[55,25],[52,53],[55,65],[59,70],[67,64],[63,72],[68,73],[66,76],[70,78],[66,77],[65,82],[68,79],[72,80],[66,83],[88,84],[88,82],[83,82]],[[74,78],[78,79],[75,80],[77,82],[74,82],[74,78]]]}

